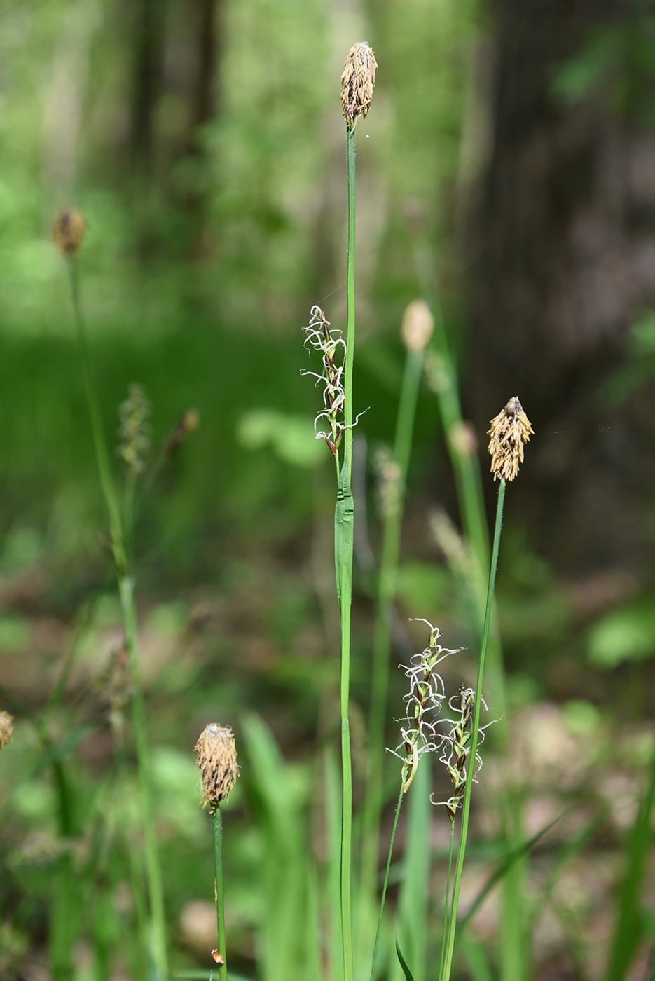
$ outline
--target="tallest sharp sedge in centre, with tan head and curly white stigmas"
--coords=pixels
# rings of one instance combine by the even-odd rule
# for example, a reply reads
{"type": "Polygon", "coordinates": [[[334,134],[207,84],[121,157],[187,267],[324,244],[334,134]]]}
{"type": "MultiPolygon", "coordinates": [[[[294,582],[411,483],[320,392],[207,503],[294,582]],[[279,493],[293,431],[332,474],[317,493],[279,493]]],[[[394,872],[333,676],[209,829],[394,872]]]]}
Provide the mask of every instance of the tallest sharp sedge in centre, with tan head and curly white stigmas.
{"type": "MultiPolygon", "coordinates": [[[[352,604],[354,501],[351,490],[353,419],[353,362],[355,353],[355,130],[371,106],[378,64],[371,47],[360,41],[348,53],[341,76],[341,106],[346,122],[346,172],[348,179],[348,263],[346,295],[348,320],[346,339],[330,332],[320,307],[312,309],[306,329],[307,340],[322,354],[323,372],[317,375],[325,385],[324,409],[317,416],[327,430],[317,432],[325,439],[336,467],[336,507],[334,510],[334,566],[340,616],[339,716],[341,730],[341,950],[344,981],[353,979],[351,917],[352,880],[352,764],[350,754],[350,610],[352,604]]],[[[313,374],[313,373],[308,373],[313,374]]],[[[314,373],[315,374],[315,373],[314,373]]],[[[316,425],[315,425],[316,429],[316,425]]]]}

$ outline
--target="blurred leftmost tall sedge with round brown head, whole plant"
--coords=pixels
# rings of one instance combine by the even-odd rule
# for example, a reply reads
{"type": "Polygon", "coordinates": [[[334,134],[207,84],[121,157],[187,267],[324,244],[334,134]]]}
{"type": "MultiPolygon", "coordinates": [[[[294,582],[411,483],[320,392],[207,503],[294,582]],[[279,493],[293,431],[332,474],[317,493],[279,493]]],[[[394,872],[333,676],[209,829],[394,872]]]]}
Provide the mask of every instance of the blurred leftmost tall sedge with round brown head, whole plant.
{"type": "Polygon", "coordinates": [[[148,744],[145,700],[141,687],[140,668],[136,641],[136,608],[134,603],[134,576],[129,558],[127,538],[131,529],[132,503],[127,490],[126,514],[129,531],[126,535],[125,517],[121,513],[118,495],[112,477],[107,440],[102,426],[100,404],[88,351],[86,326],[79,296],[77,253],[86,232],[86,221],[76,208],[64,208],[57,213],[53,229],[55,245],[66,259],[76,321],[77,345],[86,404],[91,423],[96,464],[100,486],[109,521],[112,555],[119,586],[121,611],[126,637],[126,651],[131,681],[131,707],[134,742],[139,775],[141,823],[143,827],[145,873],[149,895],[148,948],[154,981],[168,978],[168,952],[166,943],[166,916],[162,871],[157,849],[155,820],[151,788],[150,747],[148,744]]]}

